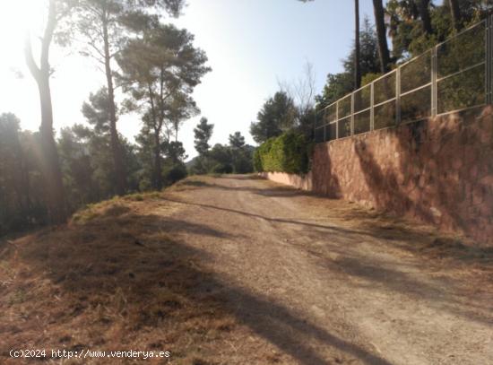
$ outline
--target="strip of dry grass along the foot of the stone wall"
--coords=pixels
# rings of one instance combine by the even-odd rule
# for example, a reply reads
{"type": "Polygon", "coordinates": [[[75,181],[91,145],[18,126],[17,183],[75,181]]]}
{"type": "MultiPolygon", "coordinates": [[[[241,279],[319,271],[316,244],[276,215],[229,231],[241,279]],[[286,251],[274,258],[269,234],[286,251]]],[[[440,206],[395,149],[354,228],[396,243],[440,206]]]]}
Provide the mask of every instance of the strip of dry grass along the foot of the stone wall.
{"type": "MultiPolygon", "coordinates": [[[[383,239],[388,248],[406,256],[426,260],[430,268],[446,270],[455,278],[476,282],[491,291],[493,282],[493,249],[480,245],[457,232],[443,232],[432,225],[412,222],[390,213],[368,209],[359,204],[330,200],[320,196],[311,200],[312,212],[338,222],[368,238],[383,239]],[[395,250],[399,251],[395,251],[395,250]]],[[[303,199],[300,196],[299,199],[303,199]]]]}

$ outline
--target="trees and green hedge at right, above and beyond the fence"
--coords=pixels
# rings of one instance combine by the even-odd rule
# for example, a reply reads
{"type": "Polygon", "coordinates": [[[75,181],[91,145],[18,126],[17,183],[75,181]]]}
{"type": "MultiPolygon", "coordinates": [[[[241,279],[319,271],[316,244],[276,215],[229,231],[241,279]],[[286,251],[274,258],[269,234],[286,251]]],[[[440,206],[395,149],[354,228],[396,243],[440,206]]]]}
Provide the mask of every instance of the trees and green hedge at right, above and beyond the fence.
{"type": "MultiPolygon", "coordinates": [[[[316,0],[300,1],[309,3],[316,0]]],[[[491,10],[491,4],[483,0],[449,0],[442,4],[431,0],[390,0],[385,6],[382,0],[373,0],[373,4],[375,25],[365,17],[360,26],[359,0],[354,1],[356,31],[353,46],[349,55],[342,59],[342,72],[328,74],[320,94],[314,92],[315,77],[311,65],[307,64],[304,78],[280,83],[280,90],[265,101],[257,120],[250,126],[250,134],[260,144],[255,152],[255,170],[306,172],[307,164],[293,162],[293,159],[306,161],[305,153],[310,148],[298,149],[300,154],[294,157],[294,144],[282,142],[287,136],[301,134],[308,145],[313,143],[316,118],[324,117],[322,109],[479,22],[491,10]],[[389,50],[388,39],[392,42],[392,50],[389,50]],[[281,156],[281,153],[290,155],[281,156]]],[[[448,56],[446,64],[461,68],[460,65],[467,65],[468,57],[475,53],[479,53],[477,58],[482,60],[482,44],[480,37],[478,39],[469,39],[472,50],[464,53],[462,45],[452,56],[448,56]],[[478,50],[474,51],[474,48],[478,50]]],[[[463,75],[453,86],[449,86],[449,103],[463,105],[464,100],[481,98],[484,88],[477,79],[463,75]],[[479,86],[474,87],[474,83],[479,86]]]]}

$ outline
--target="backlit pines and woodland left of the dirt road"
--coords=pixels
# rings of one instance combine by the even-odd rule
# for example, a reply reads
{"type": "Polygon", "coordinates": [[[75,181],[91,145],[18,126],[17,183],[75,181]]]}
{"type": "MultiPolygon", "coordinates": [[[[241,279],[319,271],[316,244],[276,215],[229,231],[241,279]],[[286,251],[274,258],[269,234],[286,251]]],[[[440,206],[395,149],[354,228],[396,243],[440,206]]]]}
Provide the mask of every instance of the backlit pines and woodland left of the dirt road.
{"type": "MultiPolygon", "coordinates": [[[[22,131],[13,114],[0,118],[0,234],[65,222],[87,204],[160,190],[186,177],[186,152],[178,133],[200,113],[192,93],[212,69],[205,52],[195,47],[194,35],[163,22],[160,14],[177,17],[184,4],[49,0],[39,55],[33,54],[31,39],[25,39],[26,63],[39,86],[39,132],[22,131]],[[58,135],[49,84],[54,46],[90,57],[106,80],[82,105],[87,125],[65,127],[58,135]],[[125,93],[120,105],[117,88],[125,93]],[[119,117],[130,112],[142,117],[135,143],[117,128],[119,117]]],[[[217,145],[212,151],[222,149],[227,156],[216,156],[219,162],[211,157],[211,166],[194,172],[251,171],[252,148],[244,146],[238,132],[231,139],[230,146],[217,145]],[[222,168],[217,166],[221,163],[222,168]]]]}

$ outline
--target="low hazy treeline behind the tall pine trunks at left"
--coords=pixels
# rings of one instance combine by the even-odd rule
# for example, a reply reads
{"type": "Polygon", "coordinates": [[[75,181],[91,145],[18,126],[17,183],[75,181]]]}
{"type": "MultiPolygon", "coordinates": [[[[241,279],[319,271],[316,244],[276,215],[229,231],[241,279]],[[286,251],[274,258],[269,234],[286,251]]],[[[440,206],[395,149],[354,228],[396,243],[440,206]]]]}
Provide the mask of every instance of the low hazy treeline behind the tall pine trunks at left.
{"type": "MultiPolygon", "coordinates": [[[[100,115],[100,91],[92,95],[91,103],[84,104],[84,115],[100,115]]],[[[186,166],[185,149],[181,142],[164,141],[160,147],[160,184],[168,187],[188,173],[248,173],[253,171],[252,156],[255,148],[245,143],[239,132],[229,135],[229,144],[207,143],[212,125],[203,118],[196,130],[211,126],[210,134],[195,133],[195,145],[201,154],[186,166]],[[205,142],[205,143],[204,143],[205,142]]],[[[143,135],[136,143],[119,136],[127,191],[140,192],[154,189],[155,161],[152,144],[143,135]]],[[[39,132],[22,130],[20,120],[13,114],[0,115],[0,236],[8,232],[39,227],[49,222],[47,193],[43,182],[39,132]]],[[[116,171],[111,156],[110,135],[105,128],[74,125],[61,129],[56,139],[65,189],[66,210],[75,210],[91,203],[117,196],[114,184],[116,171]]]]}

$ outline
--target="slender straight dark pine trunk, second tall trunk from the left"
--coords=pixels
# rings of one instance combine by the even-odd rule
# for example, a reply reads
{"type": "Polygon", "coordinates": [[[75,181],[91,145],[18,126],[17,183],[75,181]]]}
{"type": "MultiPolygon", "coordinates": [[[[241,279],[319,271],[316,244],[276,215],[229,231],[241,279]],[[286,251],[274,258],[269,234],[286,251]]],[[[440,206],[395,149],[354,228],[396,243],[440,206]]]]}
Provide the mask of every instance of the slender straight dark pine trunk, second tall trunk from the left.
{"type": "Polygon", "coordinates": [[[103,39],[105,56],[105,73],[108,85],[108,109],[109,109],[109,133],[111,136],[111,152],[113,154],[113,164],[115,166],[115,187],[117,195],[123,196],[126,191],[126,174],[123,163],[122,147],[117,132],[117,107],[115,106],[115,88],[113,86],[113,74],[111,71],[111,55],[109,53],[108,22],[106,14],[103,15],[103,39]]]}

